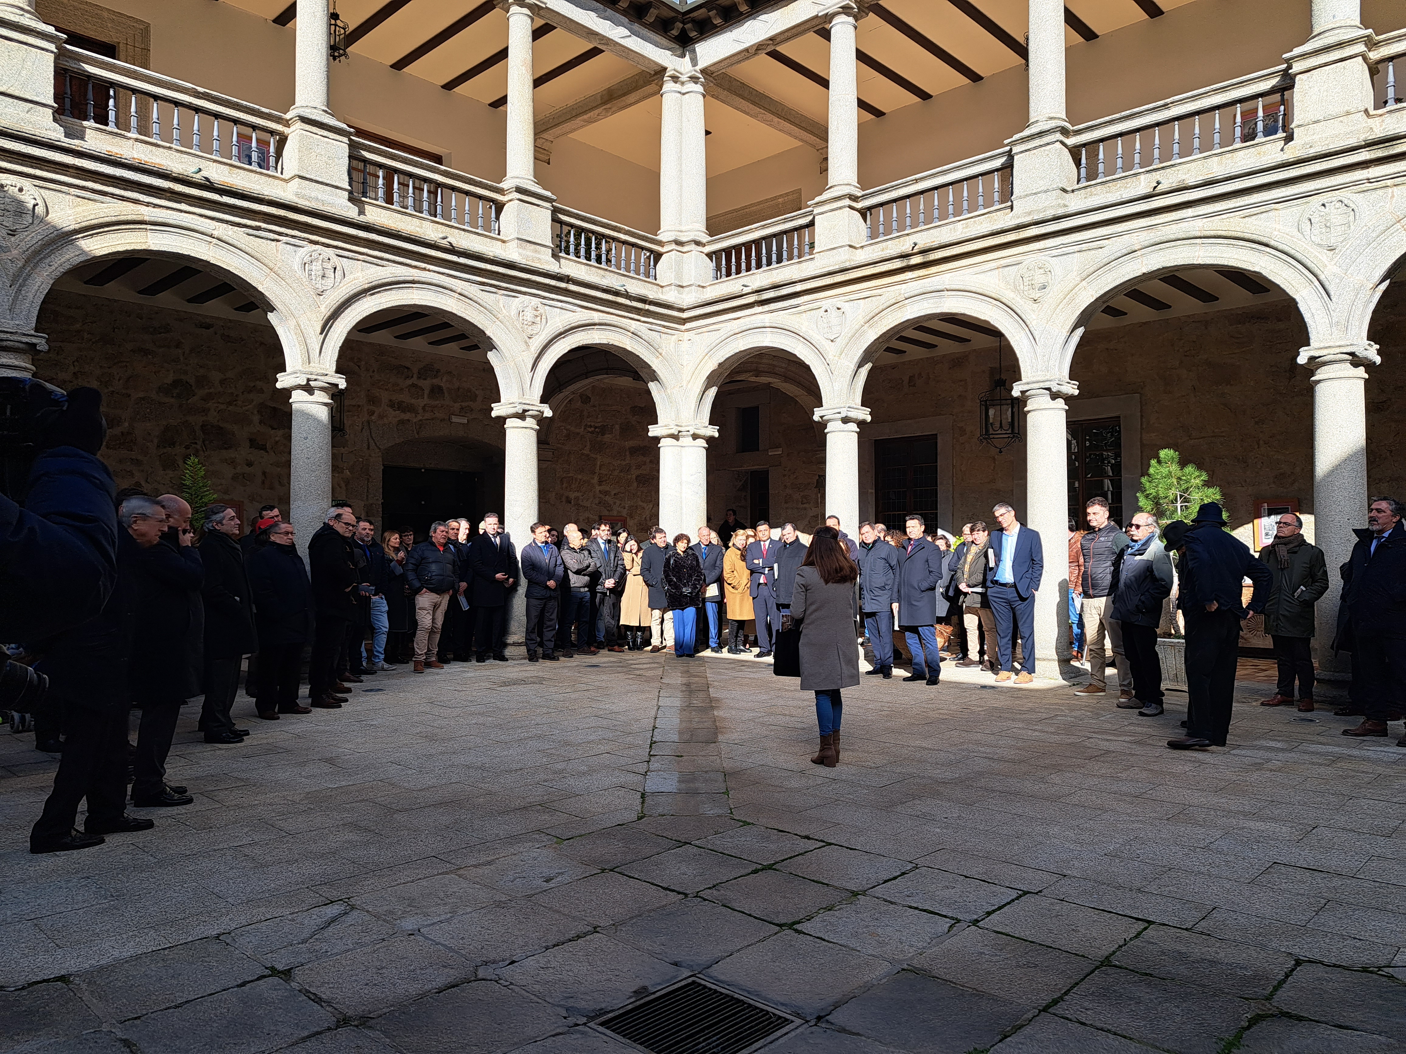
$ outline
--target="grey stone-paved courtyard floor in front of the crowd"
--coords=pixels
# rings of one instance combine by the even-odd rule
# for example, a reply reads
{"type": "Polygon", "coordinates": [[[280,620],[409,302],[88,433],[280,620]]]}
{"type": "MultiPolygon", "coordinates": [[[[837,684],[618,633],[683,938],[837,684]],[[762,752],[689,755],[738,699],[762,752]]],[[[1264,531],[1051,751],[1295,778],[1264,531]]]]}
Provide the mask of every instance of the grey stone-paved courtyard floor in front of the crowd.
{"type": "MultiPolygon", "coordinates": [[[[53,760],[0,738],[0,1048],[637,1050],[689,977],[778,1054],[1355,1054],[1406,1046],[1406,750],[948,670],[807,693],[713,656],[453,665],[197,742],[195,804],[31,857],[53,760]]],[[[247,700],[238,710],[249,713],[247,700]]],[[[1395,732],[1395,727],[1393,727],[1395,732]]]]}

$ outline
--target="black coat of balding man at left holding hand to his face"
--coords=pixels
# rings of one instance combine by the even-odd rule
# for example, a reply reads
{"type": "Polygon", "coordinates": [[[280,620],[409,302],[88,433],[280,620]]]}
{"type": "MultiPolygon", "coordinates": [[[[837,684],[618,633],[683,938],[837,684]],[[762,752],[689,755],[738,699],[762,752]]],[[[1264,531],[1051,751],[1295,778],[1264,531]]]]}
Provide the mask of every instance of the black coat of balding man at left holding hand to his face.
{"type": "Polygon", "coordinates": [[[201,693],[205,607],[200,554],[167,531],[150,548],[138,547],[136,631],[128,687],[132,701],[173,703],[201,693]]]}

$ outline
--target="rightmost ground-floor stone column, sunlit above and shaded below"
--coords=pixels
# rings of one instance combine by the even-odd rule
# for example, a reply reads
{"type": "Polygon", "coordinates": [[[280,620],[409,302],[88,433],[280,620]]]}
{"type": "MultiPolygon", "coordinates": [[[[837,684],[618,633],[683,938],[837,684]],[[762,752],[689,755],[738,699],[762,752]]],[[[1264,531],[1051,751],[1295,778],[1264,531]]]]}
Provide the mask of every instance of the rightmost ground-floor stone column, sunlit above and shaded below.
{"type": "Polygon", "coordinates": [[[1327,562],[1329,590],[1317,601],[1315,652],[1320,670],[1348,669],[1333,655],[1341,579],[1354,527],[1367,520],[1367,370],[1382,360],[1376,344],[1305,347],[1299,364],[1313,371],[1313,544],[1327,562]]]}

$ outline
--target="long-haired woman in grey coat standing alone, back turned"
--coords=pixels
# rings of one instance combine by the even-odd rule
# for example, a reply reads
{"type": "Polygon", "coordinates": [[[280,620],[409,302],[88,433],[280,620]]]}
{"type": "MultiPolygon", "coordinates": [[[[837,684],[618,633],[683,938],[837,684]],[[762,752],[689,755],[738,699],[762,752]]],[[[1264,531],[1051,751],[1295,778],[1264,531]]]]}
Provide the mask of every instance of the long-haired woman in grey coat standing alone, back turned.
{"type": "MultiPolygon", "coordinates": [[[[839,763],[841,689],[859,683],[855,645],[855,580],[859,568],[834,527],[821,527],[796,572],[790,620],[800,634],[800,686],[815,693],[820,753],[810,760],[834,769],[839,763]]],[[[785,628],[785,627],[783,627],[785,628]]]]}

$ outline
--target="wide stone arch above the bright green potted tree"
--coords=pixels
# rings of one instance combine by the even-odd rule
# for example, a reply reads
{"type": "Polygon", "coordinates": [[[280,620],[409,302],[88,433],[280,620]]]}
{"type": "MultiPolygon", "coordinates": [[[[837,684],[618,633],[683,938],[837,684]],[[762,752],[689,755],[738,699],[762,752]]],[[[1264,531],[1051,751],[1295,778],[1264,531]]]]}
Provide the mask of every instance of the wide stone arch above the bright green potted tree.
{"type": "Polygon", "coordinates": [[[1168,232],[1152,243],[1112,246],[1111,253],[1060,291],[1042,312],[1046,320],[1042,375],[1067,377],[1074,350],[1095,312],[1114,297],[1164,274],[1188,267],[1227,267],[1268,278],[1294,298],[1309,330],[1309,343],[1327,343],[1336,333],[1327,268],[1306,247],[1289,239],[1244,232],[1168,232]]]}

